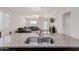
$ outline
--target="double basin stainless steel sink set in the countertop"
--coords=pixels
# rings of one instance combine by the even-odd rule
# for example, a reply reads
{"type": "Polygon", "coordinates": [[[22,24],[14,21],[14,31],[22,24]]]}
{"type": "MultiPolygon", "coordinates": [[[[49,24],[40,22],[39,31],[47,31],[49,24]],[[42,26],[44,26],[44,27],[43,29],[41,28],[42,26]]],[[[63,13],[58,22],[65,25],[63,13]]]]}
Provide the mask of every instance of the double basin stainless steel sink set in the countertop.
{"type": "Polygon", "coordinates": [[[25,43],[26,44],[53,44],[54,41],[51,37],[28,37],[25,43]]]}

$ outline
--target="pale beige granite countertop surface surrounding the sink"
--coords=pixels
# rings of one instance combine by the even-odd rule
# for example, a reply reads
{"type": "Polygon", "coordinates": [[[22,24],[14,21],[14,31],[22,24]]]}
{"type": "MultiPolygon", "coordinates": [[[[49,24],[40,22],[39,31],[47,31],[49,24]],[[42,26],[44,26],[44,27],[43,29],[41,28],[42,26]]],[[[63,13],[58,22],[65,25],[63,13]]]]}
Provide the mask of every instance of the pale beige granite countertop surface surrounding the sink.
{"type": "MultiPolygon", "coordinates": [[[[14,33],[6,39],[7,43],[3,43],[0,47],[79,47],[79,40],[71,38],[63,34],[47,35],[54,41],[53,44],[26,44],[24,43],[28,37],[38,37],[36,33],[14,33]]],[[[46,37],[47,37],[46,36],[46,37]]],[[[5,39],[5,40],[6,40],[5,39]]]]}

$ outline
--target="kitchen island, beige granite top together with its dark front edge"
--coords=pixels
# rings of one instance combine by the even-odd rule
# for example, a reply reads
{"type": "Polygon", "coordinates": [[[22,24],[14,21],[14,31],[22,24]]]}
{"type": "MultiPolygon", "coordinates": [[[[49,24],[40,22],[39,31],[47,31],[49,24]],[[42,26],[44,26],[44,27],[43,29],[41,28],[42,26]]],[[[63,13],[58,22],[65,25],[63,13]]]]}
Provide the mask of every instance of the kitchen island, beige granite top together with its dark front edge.
{"type": "Polygon", "coordinates": [[[69,37],[64,34],[46,35],[46,37],[51,37],[53,39],[53,44],[26,44],[25,41],[28,37],[39,37],[39,35],[37,33],[13,33],[12,35],[10,35],[9,38],[7,38],[9,39],[8,42],[3,43],[0,48],[10,48],[16,50],[32,50],[32,48],[34,50],[58,50],[58,48],[79,48],[78,39],[69,37]]]}

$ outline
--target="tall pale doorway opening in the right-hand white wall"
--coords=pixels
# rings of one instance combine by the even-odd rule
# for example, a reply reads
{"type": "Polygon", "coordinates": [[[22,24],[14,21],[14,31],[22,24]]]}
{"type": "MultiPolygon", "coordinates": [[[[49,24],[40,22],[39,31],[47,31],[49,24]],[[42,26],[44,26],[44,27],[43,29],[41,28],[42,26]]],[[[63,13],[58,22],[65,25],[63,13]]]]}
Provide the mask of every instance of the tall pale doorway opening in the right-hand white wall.
{"type": "Polygon", "coordinates": [[[63,34],[66,35],[71,35],[71,12],[67,12],[63,14],[63,20],[62,20],[62,24],[63,24],[63,34]]]}

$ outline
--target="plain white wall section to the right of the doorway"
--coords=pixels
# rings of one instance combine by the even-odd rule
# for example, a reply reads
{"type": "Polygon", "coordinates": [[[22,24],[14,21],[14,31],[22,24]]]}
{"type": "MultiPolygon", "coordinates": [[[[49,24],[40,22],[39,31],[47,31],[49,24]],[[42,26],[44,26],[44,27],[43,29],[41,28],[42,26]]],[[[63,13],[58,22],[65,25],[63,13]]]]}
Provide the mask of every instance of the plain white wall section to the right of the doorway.
{"type": "Polygon", "coordinates": [[[79,8],[72,8],[71,12],[71,36],[79,39],[79,8]]]}

